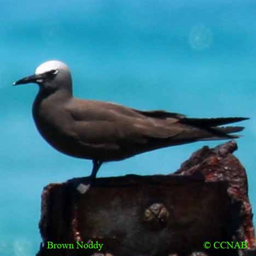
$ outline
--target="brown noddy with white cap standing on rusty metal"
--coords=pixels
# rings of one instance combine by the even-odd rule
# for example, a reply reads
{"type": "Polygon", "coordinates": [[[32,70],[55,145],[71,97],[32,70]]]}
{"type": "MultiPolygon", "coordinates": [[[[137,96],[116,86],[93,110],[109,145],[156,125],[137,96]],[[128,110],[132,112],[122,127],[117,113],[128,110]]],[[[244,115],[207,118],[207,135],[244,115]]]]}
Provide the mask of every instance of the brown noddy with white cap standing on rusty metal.
{"type": "Polygon", "coordinates": [[[245,117],[188,118],[165,110],[138,110],[121,104],[74,97],[69,67],[50,60],[13,85],[39,85],[32,115],[40,135],[59,152],[92,160],[84,191],[103,162],[196,141],[238,138],[245,127],[223,126],[245,117]]]}

